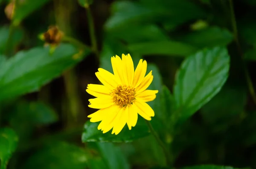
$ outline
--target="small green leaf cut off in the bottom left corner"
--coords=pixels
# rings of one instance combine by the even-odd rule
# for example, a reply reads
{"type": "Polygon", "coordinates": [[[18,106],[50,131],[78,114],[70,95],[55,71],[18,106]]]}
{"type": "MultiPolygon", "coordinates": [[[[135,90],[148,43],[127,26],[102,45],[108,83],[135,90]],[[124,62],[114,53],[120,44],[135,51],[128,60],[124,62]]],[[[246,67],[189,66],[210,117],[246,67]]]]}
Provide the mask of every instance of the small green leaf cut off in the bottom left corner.
{"type": "Polygon", "coordinates": [[[0,160],[1,169],[6,169],[7,163],[12,153],[17,147],[18,137],[16,133],[9,128],[0,129],[0,160]]]}

